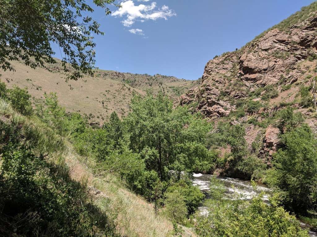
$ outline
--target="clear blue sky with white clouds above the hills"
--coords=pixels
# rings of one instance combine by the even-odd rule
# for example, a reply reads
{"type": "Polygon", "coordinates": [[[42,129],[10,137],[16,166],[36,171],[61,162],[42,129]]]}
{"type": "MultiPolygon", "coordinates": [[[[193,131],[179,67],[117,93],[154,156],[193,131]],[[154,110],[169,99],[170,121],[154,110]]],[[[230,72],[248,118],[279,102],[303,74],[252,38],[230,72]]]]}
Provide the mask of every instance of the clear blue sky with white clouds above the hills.
{"type": "MultiPolygon", "coordinates": [[[[96,66],[194,80],[216,54],[233,51],[313,0],[129,0],[104,16],[96,66]],[[140,4],[143,4],[140,6],[140,4]]],[[[56,55],[58,57],[58,55],[56,55]]]]}

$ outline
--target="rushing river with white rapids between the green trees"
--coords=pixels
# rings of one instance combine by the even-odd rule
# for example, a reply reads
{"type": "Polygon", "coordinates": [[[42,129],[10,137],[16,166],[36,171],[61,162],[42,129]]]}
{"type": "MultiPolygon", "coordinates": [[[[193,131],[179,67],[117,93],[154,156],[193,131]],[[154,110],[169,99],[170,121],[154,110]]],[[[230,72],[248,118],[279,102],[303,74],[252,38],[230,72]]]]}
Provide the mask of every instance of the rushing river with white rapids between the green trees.
{"type": "MultiPolygon", "coordinates": [[[[206,194],[206,198],[208,198],[208,191],[210,185],[210,178],[213,177],[211,174],[195,174],[193,173],[193,185],[198,186],[198,188],[206,194]]],[[[227,191],[227,195],[233,195],[235,192],[242,194],[243,199],[251,200],[255,195],[264,191],[263,200],[268,201],[268,197],[272,194],[272,191],[263,184],[257,184],[256,190],[254,190],[252,184],[248,180],[236,179],[236,178],[228,178],[215,176],[217,179],[221,180],[225,185],[227,191]]],[[[203,204],[198,207],[198,210],[202,213],[208,213],[207,207],[203,204]]],[[[310,237],[317,237],[317,232],[309,229],[305,223],[301,222],[302,228],[308,229],[308,234],[310,237]]]]}

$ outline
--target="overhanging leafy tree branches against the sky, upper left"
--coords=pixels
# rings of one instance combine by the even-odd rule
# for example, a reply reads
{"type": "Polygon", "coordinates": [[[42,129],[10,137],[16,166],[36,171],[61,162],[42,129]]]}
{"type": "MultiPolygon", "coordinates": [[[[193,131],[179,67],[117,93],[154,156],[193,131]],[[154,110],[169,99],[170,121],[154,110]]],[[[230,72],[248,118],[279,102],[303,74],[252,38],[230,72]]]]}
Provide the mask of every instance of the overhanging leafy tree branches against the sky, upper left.
{"type": "MultiPolygon", "coordinates": [[[[114,1],[91,2],[109,15],[110,5],[120,7],[114,1]]],[[[89,16],[93,11],[85,0],[0,0],[0,67],[14,70],[12,60],[31,68],[56,63],[52,57],[56,53],[52,44],[56,44],[65,55],[61,62],[67,80],[93,76],[93,33],[104,34],[89,16]]]]}

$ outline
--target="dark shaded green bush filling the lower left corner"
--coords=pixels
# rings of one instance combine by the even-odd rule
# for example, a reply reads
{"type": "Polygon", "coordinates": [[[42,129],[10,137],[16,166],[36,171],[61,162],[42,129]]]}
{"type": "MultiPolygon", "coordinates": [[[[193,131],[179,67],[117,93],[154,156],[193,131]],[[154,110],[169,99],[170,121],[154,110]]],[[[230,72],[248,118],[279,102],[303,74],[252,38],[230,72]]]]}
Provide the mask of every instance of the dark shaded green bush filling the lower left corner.
{"type": "Polygon", "coordinates": [[[66,167],[12,143],[2,152],[1,235],[113,235],[107,216],[89,203],[85,187],[69,178],[66,167]]]}

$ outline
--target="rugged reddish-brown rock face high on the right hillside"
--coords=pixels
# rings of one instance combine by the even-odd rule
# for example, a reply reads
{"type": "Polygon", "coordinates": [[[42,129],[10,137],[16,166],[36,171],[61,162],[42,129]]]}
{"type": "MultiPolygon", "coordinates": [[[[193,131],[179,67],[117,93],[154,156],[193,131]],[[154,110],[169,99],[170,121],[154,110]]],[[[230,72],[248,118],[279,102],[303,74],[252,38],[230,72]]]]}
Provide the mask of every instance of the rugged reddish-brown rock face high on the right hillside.
{"type": "MultiPolygon", "coordinates": [[[[228,116],[235,101],[256,88],[296,82],[301,76],[298,64],[317,53],[317,12],[307,20],[280,31],[275,28],[242,49],[210,60],[202,83],[181,96],[181,105],[192,104],[210,118],[228,116]]],[[[265,92],[263,92],[265,93],[265,92]]],[[[260,99],[260,98],[259,98],[260,99]]]]}

